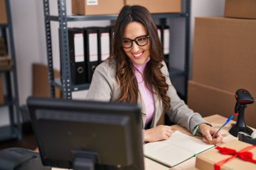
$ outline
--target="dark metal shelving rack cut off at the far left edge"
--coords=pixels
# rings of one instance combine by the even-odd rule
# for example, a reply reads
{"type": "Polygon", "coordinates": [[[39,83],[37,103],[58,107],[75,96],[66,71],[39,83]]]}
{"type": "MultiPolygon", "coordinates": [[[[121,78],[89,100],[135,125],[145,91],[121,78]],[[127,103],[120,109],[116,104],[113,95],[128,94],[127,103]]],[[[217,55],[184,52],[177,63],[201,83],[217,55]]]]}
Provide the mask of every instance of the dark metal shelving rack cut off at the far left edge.
{"type": "Polygon", "coordinates": [[[5,0],[5,8],[7,12],[7,24],[0,24],[3,37],[9,42],[9,55],[13,59],[13,67],[8,71],[0,71],[5,75],[6,95],[5,103],[0,108],[8,107],[9,110],[9,126],[0,128],[0,140],[9,140],[16,138],[22,139],[22,128],[20,123],[20,102],[18,93],[18,76],[16,69],[15,47],[13,40],[13,28],[11,22],[11,7],[9,0],[5,0]],[[8,35],[8,36],[7,36],[8,35]],[[8,38],[7,38],[8,37],[8,38]]]}

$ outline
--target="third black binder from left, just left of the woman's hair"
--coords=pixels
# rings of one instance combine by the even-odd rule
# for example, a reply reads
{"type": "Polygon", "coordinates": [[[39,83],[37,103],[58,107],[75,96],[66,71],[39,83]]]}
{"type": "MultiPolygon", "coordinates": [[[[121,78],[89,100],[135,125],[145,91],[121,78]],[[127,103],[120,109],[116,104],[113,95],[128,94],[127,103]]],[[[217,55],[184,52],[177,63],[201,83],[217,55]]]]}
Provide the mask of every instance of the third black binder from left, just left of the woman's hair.
{"type": "Polygon", "coordinates": [[[98,56],[99,64],[110,55],[110,28],[98,28],[98,56]]]}

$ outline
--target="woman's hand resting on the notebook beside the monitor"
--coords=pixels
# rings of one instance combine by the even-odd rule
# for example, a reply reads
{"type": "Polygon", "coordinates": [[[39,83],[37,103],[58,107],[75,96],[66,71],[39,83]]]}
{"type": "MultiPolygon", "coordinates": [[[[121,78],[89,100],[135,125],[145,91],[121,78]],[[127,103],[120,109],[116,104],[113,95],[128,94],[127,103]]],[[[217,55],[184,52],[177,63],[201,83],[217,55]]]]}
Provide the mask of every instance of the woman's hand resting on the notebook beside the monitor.
{"type": "Polygon", "coordinates": [[[144,142],[156,142],[158,140],[166,140],[172,135],[170,126],[156,126],[154,128],[145,130],[144,142]]]}

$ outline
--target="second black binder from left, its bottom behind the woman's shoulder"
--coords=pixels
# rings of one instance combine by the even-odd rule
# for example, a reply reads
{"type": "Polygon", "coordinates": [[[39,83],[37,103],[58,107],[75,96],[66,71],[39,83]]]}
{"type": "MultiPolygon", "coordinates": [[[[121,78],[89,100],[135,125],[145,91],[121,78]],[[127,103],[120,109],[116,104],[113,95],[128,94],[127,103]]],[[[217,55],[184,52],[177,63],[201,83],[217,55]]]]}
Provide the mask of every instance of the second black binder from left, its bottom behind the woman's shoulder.
{"type": "Polygon", "coordinates": [[[94,70],[98,66],[98,28],[84,28],[84,54],[86,61],[86,83],[92,81],[94,70]]]}

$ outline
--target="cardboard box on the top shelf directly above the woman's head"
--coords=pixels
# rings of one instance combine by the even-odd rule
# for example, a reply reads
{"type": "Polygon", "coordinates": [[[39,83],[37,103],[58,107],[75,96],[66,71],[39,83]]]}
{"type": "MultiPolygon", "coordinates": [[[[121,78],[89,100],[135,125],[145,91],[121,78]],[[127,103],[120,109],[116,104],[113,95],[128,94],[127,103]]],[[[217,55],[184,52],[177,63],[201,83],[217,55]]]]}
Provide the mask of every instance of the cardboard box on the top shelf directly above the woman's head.
{"type": "Polygon", "coordinates": [[[125,5],[141,5],[150,13],[181,12],[181,0],[125,0],[125,5]]]}

